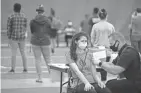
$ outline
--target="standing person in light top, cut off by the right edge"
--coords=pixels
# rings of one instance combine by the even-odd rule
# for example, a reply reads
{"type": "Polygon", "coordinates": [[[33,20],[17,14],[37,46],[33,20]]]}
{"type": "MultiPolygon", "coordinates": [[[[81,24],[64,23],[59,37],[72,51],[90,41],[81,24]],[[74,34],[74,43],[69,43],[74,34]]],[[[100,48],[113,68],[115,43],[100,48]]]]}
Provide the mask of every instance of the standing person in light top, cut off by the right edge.
{"type": "Polygon", "coordinates": [[[141,53],[141,8],[137,8],[132,15],[130,39],[132,46],[141,53]]]}

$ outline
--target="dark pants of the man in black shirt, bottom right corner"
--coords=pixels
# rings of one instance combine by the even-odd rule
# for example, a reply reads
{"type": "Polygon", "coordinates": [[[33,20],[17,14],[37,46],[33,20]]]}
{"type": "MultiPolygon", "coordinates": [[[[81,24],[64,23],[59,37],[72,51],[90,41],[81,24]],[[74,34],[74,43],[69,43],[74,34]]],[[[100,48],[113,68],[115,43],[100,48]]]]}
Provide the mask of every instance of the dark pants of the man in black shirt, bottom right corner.
{"type": "Polygon", "coordinates": [[[141,93],[134,82],[131,82],[127,79],[109,80],[106,83],[106,86],[111,90],[112,93],[141,93]]]}

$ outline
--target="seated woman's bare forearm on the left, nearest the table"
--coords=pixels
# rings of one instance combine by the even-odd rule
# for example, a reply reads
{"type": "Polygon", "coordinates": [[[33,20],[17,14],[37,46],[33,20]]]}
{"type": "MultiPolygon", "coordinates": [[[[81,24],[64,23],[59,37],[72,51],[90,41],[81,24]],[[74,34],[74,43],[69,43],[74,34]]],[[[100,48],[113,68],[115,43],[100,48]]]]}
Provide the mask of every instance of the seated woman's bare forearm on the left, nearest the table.
{"type": "Polygon", "coordinates": [[[89,81],[85,78],[85,76],[81,73],[81,71],[78,69],[76,63],[70,63],[70,68],[76,73],[76,75],[79,77],[79,79],[84,83],[87,84],[89,81]]]}

